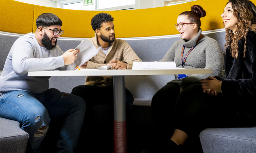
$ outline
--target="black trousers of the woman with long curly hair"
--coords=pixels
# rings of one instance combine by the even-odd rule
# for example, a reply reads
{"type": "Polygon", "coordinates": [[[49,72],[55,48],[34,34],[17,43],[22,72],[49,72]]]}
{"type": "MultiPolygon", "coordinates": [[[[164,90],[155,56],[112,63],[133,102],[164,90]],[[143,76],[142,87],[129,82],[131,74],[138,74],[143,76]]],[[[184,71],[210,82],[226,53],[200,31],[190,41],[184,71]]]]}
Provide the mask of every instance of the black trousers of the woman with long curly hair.
{"type": "Polygon", "coordinates": [[[182,91],[176,106],[178,128],[188,135],[210,127],[253,126],[255,104],[240,95],[211,96],[203,93],[201,84],[191,85],[182,91]]]}

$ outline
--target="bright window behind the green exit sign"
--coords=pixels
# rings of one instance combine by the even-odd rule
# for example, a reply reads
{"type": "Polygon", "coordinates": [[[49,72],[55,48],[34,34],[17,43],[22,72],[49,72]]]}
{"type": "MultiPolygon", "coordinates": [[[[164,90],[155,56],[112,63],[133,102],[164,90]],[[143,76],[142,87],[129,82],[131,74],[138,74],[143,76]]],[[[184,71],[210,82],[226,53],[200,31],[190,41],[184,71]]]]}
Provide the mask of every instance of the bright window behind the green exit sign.
{"type": "Polygon", "coordinates": [[[86,6],[83,6],[83,1],[79,0],[62,3],[62,8],[73,10],[127,10],[135,9],[135,0],[93,0],[93,5],[86,6]]]}

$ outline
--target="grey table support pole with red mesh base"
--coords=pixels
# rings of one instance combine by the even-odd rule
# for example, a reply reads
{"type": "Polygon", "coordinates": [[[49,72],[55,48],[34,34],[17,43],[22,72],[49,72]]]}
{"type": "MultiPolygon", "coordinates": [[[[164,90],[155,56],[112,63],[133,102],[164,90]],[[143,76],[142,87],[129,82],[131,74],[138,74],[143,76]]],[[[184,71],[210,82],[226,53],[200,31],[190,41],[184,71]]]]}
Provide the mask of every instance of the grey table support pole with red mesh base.
{"type": "Polygon", "coordinates": [[[114,152],[127,152],[124,76],[113,76],[114,152]]]}

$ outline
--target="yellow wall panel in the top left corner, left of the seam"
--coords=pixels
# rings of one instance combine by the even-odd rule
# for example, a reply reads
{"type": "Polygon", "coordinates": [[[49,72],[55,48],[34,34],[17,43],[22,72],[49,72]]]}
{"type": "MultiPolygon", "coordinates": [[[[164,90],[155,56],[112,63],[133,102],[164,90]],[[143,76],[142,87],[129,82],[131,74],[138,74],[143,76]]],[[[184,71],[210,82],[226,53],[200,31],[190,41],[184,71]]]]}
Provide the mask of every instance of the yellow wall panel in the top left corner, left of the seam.
{"type": "Polygon", "coordinates": [[[1,0],[0,31],[26,34],[32,32],[34,5],[1,0]]]}

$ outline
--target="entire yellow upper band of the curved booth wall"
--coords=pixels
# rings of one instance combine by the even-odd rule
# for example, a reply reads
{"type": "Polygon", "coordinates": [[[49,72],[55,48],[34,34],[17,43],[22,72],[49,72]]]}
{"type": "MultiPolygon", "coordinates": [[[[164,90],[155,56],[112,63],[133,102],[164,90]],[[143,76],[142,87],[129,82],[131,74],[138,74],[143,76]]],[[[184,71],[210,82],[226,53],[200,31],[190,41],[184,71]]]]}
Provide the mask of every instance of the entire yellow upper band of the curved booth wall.
{"type": "MultiPolygon", "coordinates": [[[[253,0],[256,2],[256,0],[253,0]]],[[[36,18],[46,12],[56,14],[63,22],[62,37],[90,38],[94,36],[91,18],[101,12],[112,15],[117,38],[148,37],[178,34],[175,29],[178,15],[191,10],[192,5],[200,5],[206,10],[201,18],[202,30],[223,28],[220,15],[227,0],[196,0],[188,3],[149,9],[121,11],[82,11],[44,7],[13,0],[1,0],[0,31],[26,34],[35,32],[36,18]]]]}

